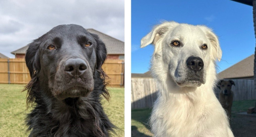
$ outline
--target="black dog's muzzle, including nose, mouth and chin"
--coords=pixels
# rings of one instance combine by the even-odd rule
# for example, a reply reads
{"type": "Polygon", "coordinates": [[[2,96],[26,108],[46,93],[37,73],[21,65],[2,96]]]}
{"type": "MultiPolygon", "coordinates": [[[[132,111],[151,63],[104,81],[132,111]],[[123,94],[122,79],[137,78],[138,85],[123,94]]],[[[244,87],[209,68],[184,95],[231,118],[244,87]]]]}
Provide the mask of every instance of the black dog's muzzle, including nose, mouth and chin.
{"type": "Polygon", "coordinates": [[[86,97],[94,88],[92,71],[86,60],[64,60],[55,76],[53,95],[60,99],[86,97]]]}

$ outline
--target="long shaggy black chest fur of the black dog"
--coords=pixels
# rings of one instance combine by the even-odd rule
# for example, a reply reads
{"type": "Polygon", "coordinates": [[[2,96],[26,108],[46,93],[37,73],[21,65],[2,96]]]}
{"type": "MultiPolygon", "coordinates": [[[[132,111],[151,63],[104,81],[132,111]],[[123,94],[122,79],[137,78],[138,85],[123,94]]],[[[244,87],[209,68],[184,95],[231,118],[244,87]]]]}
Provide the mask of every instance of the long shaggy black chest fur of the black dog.
{"type": "MultiPolygon", "coordinates": [[[[99,96],[96,92],[92,96],[99,96]]],[[[80,98],[71,101],[70,106],[45,96],[36,102],[27,116],[30,137],[108,137],[113,131],[114,125],[104,113],[99,97],[80,98]]]]}

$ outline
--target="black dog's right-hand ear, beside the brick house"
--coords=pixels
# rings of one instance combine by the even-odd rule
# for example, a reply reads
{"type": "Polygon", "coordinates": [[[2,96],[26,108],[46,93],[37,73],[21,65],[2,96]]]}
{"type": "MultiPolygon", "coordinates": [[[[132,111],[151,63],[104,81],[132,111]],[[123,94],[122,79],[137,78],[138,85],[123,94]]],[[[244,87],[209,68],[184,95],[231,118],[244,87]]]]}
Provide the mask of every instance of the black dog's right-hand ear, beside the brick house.
{"type": "Polygon", "coordinates": [[[97,66],[96,69],[101,69],[101,66],[103,65],[106,57],[107,57],[107,49],[105,44],[99,39],[98,35],[92,34],[91,35],[94,37],[94,39],[97,42],[96,46],[96,57],[97,57],[97,66]]]}

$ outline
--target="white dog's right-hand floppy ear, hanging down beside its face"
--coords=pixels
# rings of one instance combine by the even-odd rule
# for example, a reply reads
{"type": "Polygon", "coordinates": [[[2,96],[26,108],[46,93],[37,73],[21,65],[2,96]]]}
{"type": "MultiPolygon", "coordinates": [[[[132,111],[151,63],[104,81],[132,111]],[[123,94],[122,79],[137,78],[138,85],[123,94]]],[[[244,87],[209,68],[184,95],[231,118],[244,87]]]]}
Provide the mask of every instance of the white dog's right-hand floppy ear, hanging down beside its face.
{"type": "Polygon", "coordinates": [[[222,56],[222,51],[219,46],[219,41],[217,36],[212,32],[211,29],[205,26],[199,26],[206,34],[210,44],[211,44],[211,54],[213,55],[213,59],[218,59],[220,61],[222,56]]]}

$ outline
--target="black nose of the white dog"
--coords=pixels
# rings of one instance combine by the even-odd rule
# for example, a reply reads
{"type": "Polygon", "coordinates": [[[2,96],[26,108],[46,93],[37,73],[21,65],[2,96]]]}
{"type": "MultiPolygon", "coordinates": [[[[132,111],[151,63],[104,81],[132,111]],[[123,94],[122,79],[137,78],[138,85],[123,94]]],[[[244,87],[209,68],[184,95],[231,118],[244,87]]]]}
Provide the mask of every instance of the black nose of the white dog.
{"type": "Polygon", "coordinates": [[[190,56],[187,59],[187,66],[193,71],[199,71],[203,68],[203,60],[200,57],[190,56]]]}

